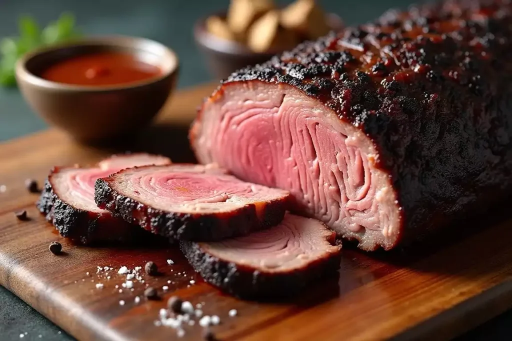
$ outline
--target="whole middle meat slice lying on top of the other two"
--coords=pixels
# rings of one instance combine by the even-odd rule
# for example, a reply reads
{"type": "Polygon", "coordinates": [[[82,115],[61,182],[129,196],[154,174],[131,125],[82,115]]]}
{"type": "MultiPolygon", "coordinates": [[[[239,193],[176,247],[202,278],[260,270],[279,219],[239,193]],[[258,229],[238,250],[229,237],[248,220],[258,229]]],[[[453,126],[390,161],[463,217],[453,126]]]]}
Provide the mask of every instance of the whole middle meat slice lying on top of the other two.
{"type": "Polygon", "coordinates": [[[220,240],[278,224],[290,193],[213,166],[123,170],[96,181],[98,207],[171,240],[220,240]]]}

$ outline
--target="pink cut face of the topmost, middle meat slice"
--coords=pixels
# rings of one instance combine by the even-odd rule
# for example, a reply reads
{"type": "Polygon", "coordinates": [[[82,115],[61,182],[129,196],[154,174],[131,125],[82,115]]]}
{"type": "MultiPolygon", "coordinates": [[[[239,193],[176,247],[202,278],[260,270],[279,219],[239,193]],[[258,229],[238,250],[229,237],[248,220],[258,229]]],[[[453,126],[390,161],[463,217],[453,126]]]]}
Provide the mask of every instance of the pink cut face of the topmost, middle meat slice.
{"type": "Polygon", "coordinates": [[[117,192],[168,212],[228,212],[289,196],[288,191],[247,183],[225,170],[202,165],[142,167],[114,177],[109,182],[117,192]]]}

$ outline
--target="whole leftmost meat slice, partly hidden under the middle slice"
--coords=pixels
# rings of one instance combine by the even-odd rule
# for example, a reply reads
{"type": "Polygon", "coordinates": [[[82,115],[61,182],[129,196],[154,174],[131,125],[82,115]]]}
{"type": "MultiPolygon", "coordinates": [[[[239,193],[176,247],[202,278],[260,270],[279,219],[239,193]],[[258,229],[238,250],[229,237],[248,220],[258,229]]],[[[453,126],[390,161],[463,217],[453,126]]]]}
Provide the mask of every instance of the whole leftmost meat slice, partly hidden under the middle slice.
{"type": "Polygon", "coordinates": [[[139,153],[114,155],[94,168],[55,167],[36,205],[60,235],[75,242],[128,241],[138,236],[140,229],[96,206],[96,179],[127,167],[168,163],[170,160],[167,157],[139,153]]]}

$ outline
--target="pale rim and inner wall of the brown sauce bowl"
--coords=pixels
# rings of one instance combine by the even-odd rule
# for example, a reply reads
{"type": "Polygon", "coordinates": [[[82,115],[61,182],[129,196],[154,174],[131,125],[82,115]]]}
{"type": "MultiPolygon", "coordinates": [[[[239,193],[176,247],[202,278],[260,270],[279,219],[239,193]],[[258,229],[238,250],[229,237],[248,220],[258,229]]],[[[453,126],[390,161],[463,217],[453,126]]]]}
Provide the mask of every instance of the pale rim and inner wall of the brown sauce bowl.
{"type": "MultiPolygon", "coordinates": [[[[163,65],[164,62],[159,65],[163,65]]],[[[98,92],[109,92],[115,90],[126,90],[126,89],[134,89],[144,87],[150,84],[158,83],[173,74],[175,74],[179,69],[179,58],[178,55],[170,48],[165,46],[164,44],[147,38],[142,37],[131,37],[131,36],[123,36],[123,35],[108,35],[108,36],[98,36],[98,37],[88,37],[85,39],[68,41],[65,43],[54,44],[47,47],[42,47],[31,51],[25,54],[23,57],[19,58],[16,62],[16,79],[17,81],[24,81],[30,83],[32,85],[47,88],[47,89],[55,89],[55,90],[68,90],[72,92],[90,92],[90,93],[98,93],[98,92]],[[30,72],[27,69],[27,63],[32,59],[41,54],[57,52],[62,49],[75,48],[80,46],[105,46],[105,47],[131,47],[134,50],[140,51],[148,51],[146,49],[140,48],[142,43],[150,43],[158,46],[162,51],[161,59],[165,59],[169,62],[169,67],[167,70],[163,70],[162,74],[156,77],[149,78],[147,80],[142,80],[138,82],[130,82],[126,84],[116,84],[116,85],[104,85],[104,86],[96,86],[96,85],[76,85],[76,84],[67,84],[67,83],[59,83],[46,80],[41,78],[34,73],[30,72]]]]}

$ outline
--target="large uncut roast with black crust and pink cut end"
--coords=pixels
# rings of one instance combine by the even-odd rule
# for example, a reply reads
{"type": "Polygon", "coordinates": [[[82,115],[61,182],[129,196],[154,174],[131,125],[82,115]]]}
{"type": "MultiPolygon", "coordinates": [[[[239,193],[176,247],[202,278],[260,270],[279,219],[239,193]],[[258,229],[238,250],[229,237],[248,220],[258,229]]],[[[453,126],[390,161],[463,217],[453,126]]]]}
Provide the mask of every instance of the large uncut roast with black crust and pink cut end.
{"type": "Polygon", "coordinates": [[[223,81],[191,144],[362,249],[421,239],[512,187],[511,21],[450,1],[303,43],[223,81]]]}

